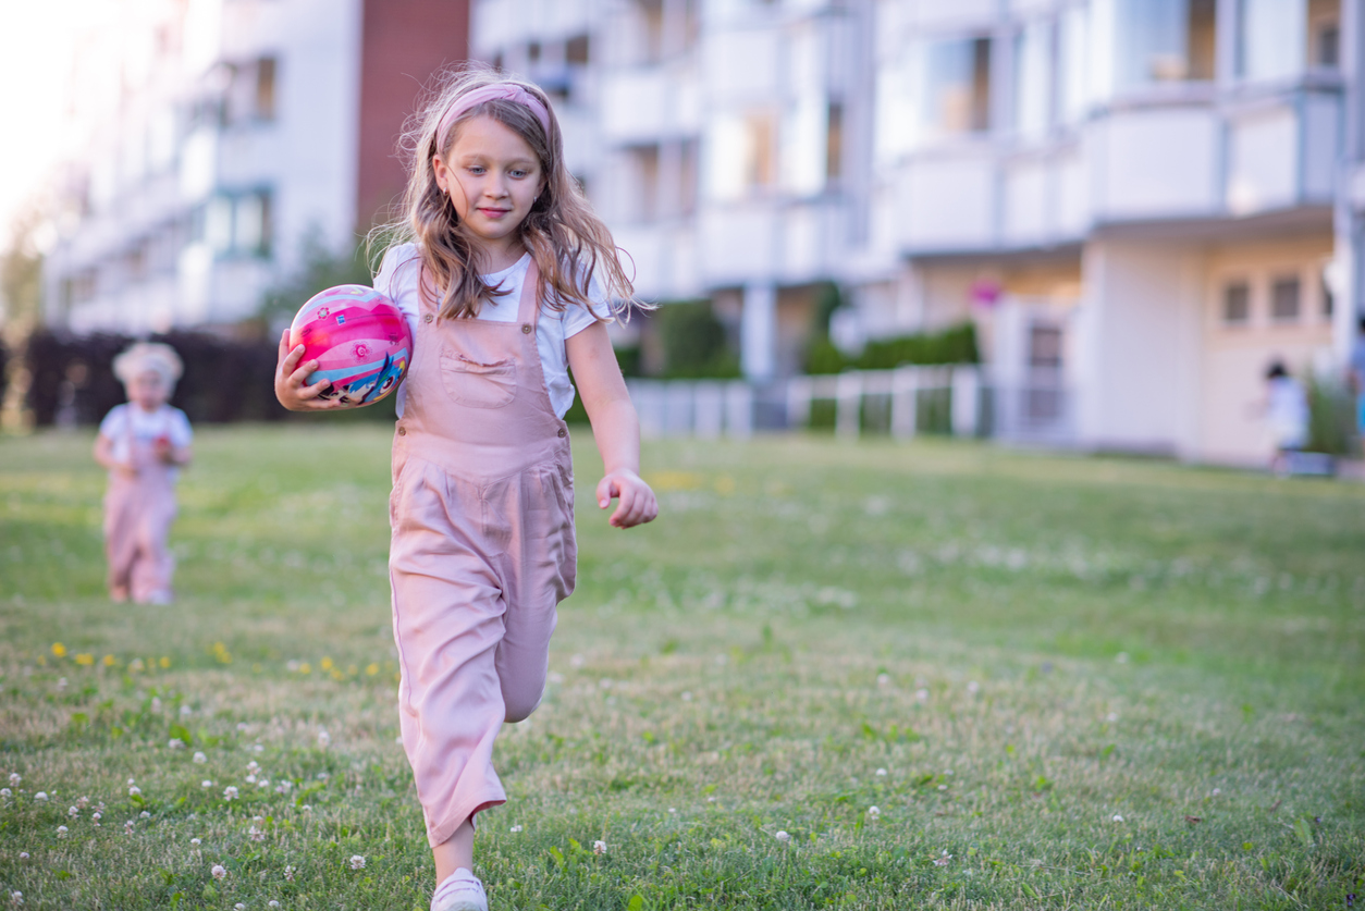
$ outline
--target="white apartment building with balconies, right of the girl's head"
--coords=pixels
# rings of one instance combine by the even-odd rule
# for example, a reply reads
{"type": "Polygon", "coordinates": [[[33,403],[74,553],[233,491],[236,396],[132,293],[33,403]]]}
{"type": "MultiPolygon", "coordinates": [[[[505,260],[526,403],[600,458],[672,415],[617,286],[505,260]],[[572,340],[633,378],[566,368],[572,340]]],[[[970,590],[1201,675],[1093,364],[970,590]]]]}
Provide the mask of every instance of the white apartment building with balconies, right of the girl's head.
{"type": "Polygon", "coordinates": [[[745,373],[812,288],[863,339],[973,320],[996,430],[1257,462],[1272,359],[1361,309],[1362,22],[1340,0],[478,0],[472,53],[564,86],[639,290],[745,373]]]}

